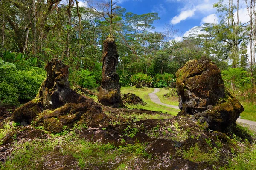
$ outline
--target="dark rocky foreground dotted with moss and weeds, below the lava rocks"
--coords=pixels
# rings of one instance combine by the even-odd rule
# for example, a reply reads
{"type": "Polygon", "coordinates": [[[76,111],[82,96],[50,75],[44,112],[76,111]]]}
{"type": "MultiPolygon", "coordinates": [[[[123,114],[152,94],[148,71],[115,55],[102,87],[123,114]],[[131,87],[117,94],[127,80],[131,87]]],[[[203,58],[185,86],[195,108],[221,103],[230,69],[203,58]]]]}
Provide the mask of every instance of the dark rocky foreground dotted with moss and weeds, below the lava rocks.
{"type": "Polygon", "coordinates": [[[8,165],[27,169],[30,165],[20,165],[15,163],[19,160],[13,159],[24,154],[24,150],[29,152],[26,153],[27,157],[34,156],[33,152],[38,150],[44,159],[22,157],[31,161],[31,169],[105,170],[122,167],[127,170],[211,170],[227,164],[234,153],[239,153],[246,144],[250,144],[246,141],[252,141],[250,138],[245,140],[246,136],[237,136],[240,133],[234,136],[233,133],[208,130],[206,125],[201,125],[191,116],[170,118],[172,116],[168,114],[154,111],[106,106],[102,106],[102,110],[110,119],[109,127],[90,128],[84,125],[57,135],[49,134],[41,127],[17,125],[12,122],[12,117],[2,119],[1,125],[6,135],[0,147],[1,168],[7,169],[8,165]],[[150,115],[161,119],[150,119],[150,115]],[[111,158],[104,159],[102,157],[105,156],[99,153],[93,155],[80,150],[81,141],[110,143],[111,148],[104,150],[104,154],[111,158]],[[51,142],[50,148],[47,148],[48,142],[51,142]],[[40,146],[41,149],[37,149],[40,146]],[[88,156],[84,157],[84,164],[81,163],[83,154],[80,157],[75,154],[80,152],[88,156]],[[95,161],[97,158],[99,160],[95,161]],[[10,162],[15,164],[9,165],[10,162]]]}

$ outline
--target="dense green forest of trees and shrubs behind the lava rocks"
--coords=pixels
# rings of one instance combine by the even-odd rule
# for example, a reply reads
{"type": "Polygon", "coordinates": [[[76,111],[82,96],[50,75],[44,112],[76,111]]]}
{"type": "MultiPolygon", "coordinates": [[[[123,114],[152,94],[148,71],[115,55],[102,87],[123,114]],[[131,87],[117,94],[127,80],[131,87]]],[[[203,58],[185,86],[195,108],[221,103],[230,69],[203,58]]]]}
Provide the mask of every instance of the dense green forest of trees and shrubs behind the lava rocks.
{"type": "Polygon", "coordinates": [[[112,0],[87,0],[87,7],[77,0],[0,0],[0,105],[33,99],[53,58],[69,65],[71,86],[98,87],[109,34],[115,36],[122,86],[175,85],[180,67],[205,56],[221,69],[233,94],[255,104],[255,0],[228,2],[214,4],[219,24],[195,27],[175,40],[179,31],[172,25],[154,31],[157,13],[134,14],[112,0]],[[244,24],[239,3],[248,7],[250,20],[244,24]]]}

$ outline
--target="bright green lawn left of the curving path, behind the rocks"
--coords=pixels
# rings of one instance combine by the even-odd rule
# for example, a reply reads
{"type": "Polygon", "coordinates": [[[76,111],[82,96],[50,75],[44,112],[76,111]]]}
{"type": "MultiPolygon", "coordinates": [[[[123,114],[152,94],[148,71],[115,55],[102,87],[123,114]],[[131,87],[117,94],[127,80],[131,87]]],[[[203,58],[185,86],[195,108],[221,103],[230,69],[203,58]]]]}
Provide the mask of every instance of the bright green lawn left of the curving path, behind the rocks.
{"type": "Polygon", "coordinates": [[[174,108],[168,108],[162,105],[157,105],[156,103],[152,102],[148,94],[152,93],[153,91],[154,91],[154,88],[147,88],[147,87],[143,87],[140,89],[136,88],[135,86],[121,88],[121,94],[125,94],[128,92],[133,93],[136,96],[139,96],[140,98],[142,98],[143,101],[147,103],[147,105],[127,105],[128,108],[137,108],[137,109],[141,108],[141,109],[147,109],[151,111],[161,111],[163,113],[167,112],[171,115],[177,115],[179,110],[174,108]]]}

